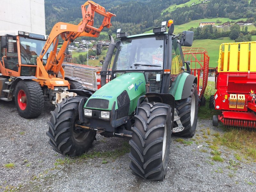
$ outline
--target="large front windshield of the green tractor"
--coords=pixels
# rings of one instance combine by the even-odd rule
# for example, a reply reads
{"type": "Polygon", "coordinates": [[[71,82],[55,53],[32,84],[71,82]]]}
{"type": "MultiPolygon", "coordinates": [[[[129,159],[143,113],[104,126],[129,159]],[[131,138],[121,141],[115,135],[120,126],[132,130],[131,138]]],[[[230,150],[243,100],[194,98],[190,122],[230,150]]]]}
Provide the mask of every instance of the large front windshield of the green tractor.
{"type": "Polygon", "coordinates": [[[163,69],[164,36],[121,40],[114,70],[163,69]]]}

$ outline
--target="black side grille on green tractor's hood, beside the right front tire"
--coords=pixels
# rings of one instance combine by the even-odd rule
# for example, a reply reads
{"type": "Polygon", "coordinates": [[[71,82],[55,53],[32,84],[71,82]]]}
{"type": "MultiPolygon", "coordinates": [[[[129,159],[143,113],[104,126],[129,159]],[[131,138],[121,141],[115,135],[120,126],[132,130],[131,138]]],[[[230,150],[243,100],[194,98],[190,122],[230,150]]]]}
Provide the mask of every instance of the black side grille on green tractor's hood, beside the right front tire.
{"type": "Polygon", "coordinates": [[[118,97],[117,97],[117,117],[116,119],[120,119],[125,117],[129,113],[130,109],[130,98],[126,90],[124,90],[118,97]]]}

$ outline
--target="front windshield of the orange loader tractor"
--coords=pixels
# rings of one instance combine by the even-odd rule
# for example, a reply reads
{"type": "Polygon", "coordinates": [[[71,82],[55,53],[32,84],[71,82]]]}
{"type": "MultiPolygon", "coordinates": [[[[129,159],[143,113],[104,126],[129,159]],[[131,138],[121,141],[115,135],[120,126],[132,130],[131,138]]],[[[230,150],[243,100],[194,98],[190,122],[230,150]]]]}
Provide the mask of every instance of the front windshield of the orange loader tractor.
{"type": "MultiPolygon", "coordinates": [[[[36,58],[43,50],[45,40],[39,39],[29,39],[25,37],[20,37],[20,55],[21,63],[27,65],[36,65],[36,58]]],[[[47,53],[52,50],[52,45],[50,49],[47,50],[43,57],[43,64],[46,64],[47,53]]]]}

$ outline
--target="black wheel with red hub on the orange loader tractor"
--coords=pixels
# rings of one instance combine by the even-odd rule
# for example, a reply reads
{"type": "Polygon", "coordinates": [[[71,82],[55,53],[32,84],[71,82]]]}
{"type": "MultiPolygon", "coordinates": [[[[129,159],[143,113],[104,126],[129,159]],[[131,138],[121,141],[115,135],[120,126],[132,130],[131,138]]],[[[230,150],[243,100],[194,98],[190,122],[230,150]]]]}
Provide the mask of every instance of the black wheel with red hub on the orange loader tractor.
{"type": "Polygon", "coordinates": [[[19,115],[26,119],[38,117],[44,109],[43,90],[36,81],[18,82],[14,97],[19,115]],[[21,97],[26,98],[26,101],[21,100],[21,97]]]}

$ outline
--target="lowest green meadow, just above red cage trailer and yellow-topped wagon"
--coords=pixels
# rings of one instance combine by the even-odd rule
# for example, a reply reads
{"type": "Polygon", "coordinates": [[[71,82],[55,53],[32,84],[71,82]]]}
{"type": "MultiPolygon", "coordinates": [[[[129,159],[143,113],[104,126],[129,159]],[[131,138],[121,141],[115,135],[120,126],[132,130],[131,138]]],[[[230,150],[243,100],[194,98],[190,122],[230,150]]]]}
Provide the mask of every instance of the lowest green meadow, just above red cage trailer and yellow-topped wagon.
{"type": "MultiPolygon", "coordinates": [[[[252,41],[256,41],[256,36],[252,36],[252,41]]],[[[224,37],[223,39],[197,39],[193,41],[192,47],[205,48],[210,56],[209,67],[216,67],[218,65],[220,44],[232,42],[235,41],[229,37],[224,37]]]]}

